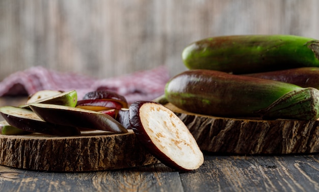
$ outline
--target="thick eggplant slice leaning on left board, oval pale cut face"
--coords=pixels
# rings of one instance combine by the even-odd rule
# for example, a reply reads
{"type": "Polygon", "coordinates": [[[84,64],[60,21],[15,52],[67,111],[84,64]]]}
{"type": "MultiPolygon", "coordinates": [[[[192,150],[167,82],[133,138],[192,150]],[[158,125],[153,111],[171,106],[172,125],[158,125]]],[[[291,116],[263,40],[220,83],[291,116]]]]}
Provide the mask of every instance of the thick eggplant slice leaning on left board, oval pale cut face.
{"type": "Polygon", "coordinates": [[[185,124],[168,108],[140,101],[129,107],[132,130],[149,153],[176,170],[195,170],[203,153],[185,124]]]}

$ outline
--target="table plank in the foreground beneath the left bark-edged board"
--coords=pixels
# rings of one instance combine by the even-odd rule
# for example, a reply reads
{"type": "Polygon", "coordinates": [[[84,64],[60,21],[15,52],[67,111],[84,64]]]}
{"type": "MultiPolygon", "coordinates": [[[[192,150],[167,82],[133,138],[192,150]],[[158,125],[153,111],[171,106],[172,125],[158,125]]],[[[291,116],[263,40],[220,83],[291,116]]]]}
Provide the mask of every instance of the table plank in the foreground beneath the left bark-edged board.
{"type": "Polygon", "coordinates": [[[2,191],[183,191],[179,173],[162,163],[108,172],[55,173],[0,166],[2,191]]]}

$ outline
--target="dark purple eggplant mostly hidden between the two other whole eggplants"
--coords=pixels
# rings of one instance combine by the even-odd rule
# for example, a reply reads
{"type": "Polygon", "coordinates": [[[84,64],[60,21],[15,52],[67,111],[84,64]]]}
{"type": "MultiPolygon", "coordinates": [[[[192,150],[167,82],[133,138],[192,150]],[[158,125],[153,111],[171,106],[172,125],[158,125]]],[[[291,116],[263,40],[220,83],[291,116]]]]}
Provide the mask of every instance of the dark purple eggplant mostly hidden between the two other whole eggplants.
{"type": "Polygon", "coordinates": [[[281,81],[301,87],[319,89],[319,67],[301,67],[264,73],[245,74],[244,76],[281,81]]]}

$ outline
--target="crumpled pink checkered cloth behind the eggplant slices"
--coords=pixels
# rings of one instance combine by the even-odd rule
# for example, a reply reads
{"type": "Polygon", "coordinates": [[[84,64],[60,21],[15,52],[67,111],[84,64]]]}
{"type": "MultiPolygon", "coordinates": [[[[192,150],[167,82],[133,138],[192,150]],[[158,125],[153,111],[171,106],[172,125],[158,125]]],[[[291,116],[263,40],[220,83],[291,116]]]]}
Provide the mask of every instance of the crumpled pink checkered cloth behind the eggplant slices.
{"type": "Polygon", "coordinates": [[[123,95],[128,103],[151,101],[164,94],[169,80],[165,66],[115,78],[95,79],[81,74],[61,73],[42,66],[17,71],[0,82],[0,97],[4,95],[29,95],[39,90],[76,90],[78,100],[85,93],[108,89],[123,95]]]}

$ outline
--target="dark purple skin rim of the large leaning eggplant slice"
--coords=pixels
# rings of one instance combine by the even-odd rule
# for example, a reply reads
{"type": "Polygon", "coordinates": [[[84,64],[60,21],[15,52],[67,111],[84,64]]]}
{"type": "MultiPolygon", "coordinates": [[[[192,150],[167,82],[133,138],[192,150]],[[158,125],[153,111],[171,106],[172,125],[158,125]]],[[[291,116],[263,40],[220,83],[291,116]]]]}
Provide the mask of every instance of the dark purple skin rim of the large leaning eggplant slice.
{"type": "MultiPolygon", "coordinates": [[[[132,127],[132,130],[136,134],[139,141],[144,145],[144,147],[157,159],[159,159],[163,164],[176,169],[176,170],[183,170],[183,171],[189,171],[185,170],[180,165],[176,164],[174,161],[172,161],[170,158],[167,157],[161,150],[156,148],[154,143],[151,141],[151,138],[148,136],[148,134],[145,132],[145,129],[143,127],[143,124],[141,122],[140,118],[140,108],[145,103],[154,103],[156,105],[161,105],[155,102],[150,101],[138,101],[134,102],[129,107],[129,122],[132,127]]],[[[156,117],[154,117],[156,118],[156,117]]]]}

